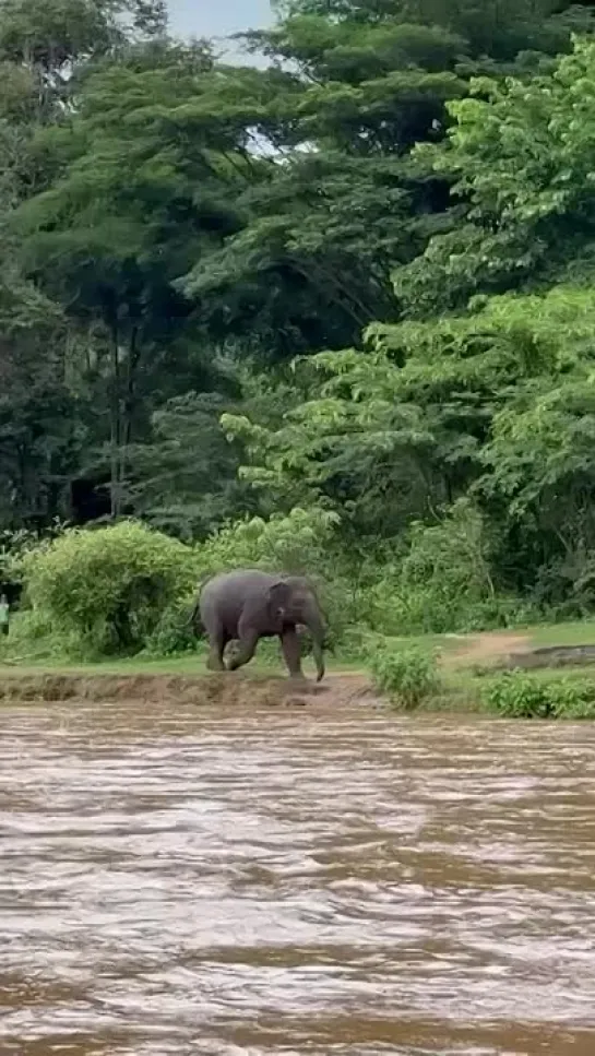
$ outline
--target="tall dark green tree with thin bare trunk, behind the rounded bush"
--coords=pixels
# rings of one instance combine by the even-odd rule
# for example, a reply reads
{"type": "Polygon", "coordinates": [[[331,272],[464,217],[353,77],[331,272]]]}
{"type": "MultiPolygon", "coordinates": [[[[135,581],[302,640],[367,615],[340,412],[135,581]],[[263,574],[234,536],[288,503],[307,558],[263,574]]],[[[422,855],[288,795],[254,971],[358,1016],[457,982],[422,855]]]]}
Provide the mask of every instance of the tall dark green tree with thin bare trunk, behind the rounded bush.
{"type": "Polygon", "coordinates": [[[112,515],[122,510],[130,444],[150,424],[151,393],[163,392],[170,370],[189,388],[209,387],[204,359],[189,359],[191,308],[176,281],[236,225],[223,156],[235,144],[233,132],[207,126],[187,151],[162,117],[185,93],[201,98],[212,60],[203,51],[197,73],[195,58],[191,50],[185,67],[176,50],[172,66],[165,55],[148,70],[124,63],[88,78],[66,144],[62,128],[53,143],[43,133],[59,167],[66,156],[62,175],[15,214],[26,273],[92,336],[86,380],[108,412],[108,432],[97,423],[96,439],[109,452],[112,515]]]}

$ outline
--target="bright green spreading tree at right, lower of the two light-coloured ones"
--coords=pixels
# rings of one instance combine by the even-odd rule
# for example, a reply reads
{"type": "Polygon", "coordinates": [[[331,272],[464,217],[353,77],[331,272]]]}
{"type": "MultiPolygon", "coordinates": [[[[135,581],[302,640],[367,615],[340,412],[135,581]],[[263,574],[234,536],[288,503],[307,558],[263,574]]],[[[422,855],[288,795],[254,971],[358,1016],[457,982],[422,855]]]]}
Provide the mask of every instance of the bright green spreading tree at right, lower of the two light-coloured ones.
{"type": "Polygon", "coordinates": [[[364,550],[473,498],[499,541],[500,588],[529,590],[595,548],[594,320],[591,289],[558,286],[377,325],[366,351],[304,366],[281,426],[224,427],[246,444],[246,479],[286,507],[331,505],[364,550]]]}

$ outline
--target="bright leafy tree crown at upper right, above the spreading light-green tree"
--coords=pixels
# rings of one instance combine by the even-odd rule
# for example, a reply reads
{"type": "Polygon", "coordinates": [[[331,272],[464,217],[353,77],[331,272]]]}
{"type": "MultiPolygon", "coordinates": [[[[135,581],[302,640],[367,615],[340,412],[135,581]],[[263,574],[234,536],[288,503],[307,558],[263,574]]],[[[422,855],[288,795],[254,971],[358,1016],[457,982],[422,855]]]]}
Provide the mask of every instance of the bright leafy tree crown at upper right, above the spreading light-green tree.
{"type": "Polygon", "coordinates": [[[425,152],[452,180],[464,217],[453,209],[450,230],[397,275],[410,313],[461,308],[474,293],[527,282],[588,282],[592,273],[595,45],[574,39],[554,72],[528,83],[478,81],[472,92],[450,108],[448,143],[425,152]]]}

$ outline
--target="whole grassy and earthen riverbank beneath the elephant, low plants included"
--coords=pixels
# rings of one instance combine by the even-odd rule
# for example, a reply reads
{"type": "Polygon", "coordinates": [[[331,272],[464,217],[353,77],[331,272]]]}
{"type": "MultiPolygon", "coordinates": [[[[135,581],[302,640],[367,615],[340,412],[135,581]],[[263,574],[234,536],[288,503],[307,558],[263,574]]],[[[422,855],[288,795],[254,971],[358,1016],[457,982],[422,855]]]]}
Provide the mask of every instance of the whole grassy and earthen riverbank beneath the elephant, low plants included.
{"type": "Polygon", "coordinates": [[[207,672],[203,649],[183,656],[136,656],[102,663],[72,663],[63,657],[48,656],[5,657],[4,662],[0,660],[0,700],[143,699],[166,700],[171,704],[227,705],[305,703],[310,698],[333,707],[356,700],[383,701],[400,711],[488,714],[496,711],[510,712],[517,717],[532,717],[524,711],[531,712],[535,707],[542,711],[545,709],[542,717],[550,717],[543,703],[543,699],[550,697],[569,702],[568,717],[595,717],[595,705],[591,709],[588,704],[591,693],[595,699],[595,664],[593,658],[585,660],[583,655],[583,648],[593,643],[595,621],[481,634],[389,639],[383,650],[392,663],[392,677],[400,680],[396,690],[391,688],[390,678],[383,683],[373,663],[368,666],[357,657],[332,661],[320,686],[313,683],[313,666],[307,661],[305,671],[309,685],[299,691],[287,680],[279,661],[271,651],[264,651],[264,655],[257,657],[249,668],[231,676],[207,672]],[[559,655],[538,654],[548,646],[559,646],[562,651],[575,648],[579,651],[575,662],[572,655],[560,662],[559,655]],[[528,666],[529,661],[533,664],[536,651],[543,666],[510,674],[510,668],[528,666]],[[412,656],[416,658],[412,661],[412,656]],[[425,662],[419,666],[419,657],[430,657],[430,665],[435,665],[431,677],[425,662]],[[505,667],[508,674],[503,671],[505,667]],[[500,699],[492,690],[495,679],[501,680],[505,697],[500,708],[489,702],[500,699]],[[542,689],[537,690],[535,687],[539,686],[542,689]]]}

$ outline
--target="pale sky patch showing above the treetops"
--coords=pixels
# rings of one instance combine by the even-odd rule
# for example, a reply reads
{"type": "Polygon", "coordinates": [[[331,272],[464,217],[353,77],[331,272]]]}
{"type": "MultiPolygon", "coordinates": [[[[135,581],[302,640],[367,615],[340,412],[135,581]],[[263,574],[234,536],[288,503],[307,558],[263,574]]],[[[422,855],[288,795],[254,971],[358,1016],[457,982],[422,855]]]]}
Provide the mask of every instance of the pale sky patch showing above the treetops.
{"type": "Polygon", "coordinates": [[[269,0],[169,0],[176,36],[222,37],[271,22],[269,0]]]}

